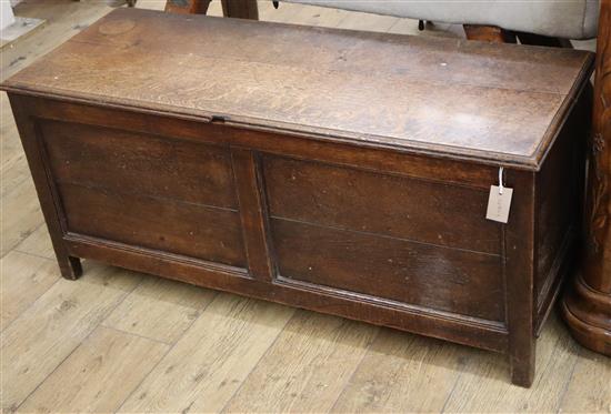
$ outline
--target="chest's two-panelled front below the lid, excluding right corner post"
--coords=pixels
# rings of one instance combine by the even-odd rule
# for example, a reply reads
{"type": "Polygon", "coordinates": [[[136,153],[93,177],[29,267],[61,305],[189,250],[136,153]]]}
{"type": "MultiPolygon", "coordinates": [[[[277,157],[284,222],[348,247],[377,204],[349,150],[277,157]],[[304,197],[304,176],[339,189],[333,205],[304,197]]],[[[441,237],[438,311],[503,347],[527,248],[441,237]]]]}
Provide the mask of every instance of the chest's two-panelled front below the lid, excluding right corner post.
{"type": "Polygon", "coordinates": [[[492,168],[10,98],[64,276],[93,259],[507,352],[492,168]]]}

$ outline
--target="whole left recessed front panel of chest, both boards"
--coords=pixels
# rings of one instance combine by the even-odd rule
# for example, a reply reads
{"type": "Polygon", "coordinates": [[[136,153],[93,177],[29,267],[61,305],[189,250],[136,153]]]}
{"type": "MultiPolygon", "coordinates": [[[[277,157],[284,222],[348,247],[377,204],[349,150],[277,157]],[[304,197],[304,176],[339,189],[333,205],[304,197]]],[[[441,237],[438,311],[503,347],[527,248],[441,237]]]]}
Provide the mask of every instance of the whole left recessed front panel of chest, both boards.
{"type": "Polygon", "coordinates": [[[228,148],[41,120],[68,233],[246,267],[228,148]]]}

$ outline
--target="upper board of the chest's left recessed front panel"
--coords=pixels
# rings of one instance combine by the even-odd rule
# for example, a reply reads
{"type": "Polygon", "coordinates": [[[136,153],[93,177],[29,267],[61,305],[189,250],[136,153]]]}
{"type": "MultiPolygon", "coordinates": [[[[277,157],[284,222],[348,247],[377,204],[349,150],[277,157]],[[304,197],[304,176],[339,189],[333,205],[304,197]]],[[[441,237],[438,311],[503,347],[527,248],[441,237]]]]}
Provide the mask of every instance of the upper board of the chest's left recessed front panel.
{"type": "Polygon", "coordinates": [[[228,149],[57,121],[40,129],[57,181],[237,206],[228,149]]]}

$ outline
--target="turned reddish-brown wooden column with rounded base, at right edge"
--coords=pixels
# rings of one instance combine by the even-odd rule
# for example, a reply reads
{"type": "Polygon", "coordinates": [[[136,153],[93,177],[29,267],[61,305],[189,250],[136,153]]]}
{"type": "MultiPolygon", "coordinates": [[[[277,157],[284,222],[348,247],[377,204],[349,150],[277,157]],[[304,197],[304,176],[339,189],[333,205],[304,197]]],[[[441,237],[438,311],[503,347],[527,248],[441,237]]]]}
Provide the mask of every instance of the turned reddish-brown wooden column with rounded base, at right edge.
{"type": "Polygon", "coordinates": [[[585,253],[562,313],[581,344],[611,355],[611,0],[602,1],[599,18],[590,147],[585,253]]]}

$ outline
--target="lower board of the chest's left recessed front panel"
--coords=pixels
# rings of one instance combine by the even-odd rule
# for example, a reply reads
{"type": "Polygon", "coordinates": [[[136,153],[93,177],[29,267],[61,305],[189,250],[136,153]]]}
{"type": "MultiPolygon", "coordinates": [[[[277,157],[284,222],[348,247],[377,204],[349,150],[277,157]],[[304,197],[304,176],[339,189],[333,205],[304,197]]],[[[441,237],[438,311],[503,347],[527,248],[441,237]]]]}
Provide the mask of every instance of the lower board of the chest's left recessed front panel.
{"type": "Polygon", "coordinates": [[[70,232],[246,267],[234,211],[74,184],[58,190],[70,232]]]}

